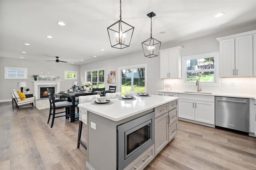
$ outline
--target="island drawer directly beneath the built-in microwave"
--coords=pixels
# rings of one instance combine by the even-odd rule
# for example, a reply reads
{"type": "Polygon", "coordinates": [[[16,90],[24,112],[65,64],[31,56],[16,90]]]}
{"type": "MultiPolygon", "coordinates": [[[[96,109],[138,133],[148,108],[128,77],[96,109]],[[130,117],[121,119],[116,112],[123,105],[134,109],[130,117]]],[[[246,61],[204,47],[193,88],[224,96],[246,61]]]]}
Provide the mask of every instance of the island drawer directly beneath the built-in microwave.
{"type": "Polygon", "coordinates": [[[129,164],[124,170],[143,170],[154,159],[154,145],[129,164]]]}

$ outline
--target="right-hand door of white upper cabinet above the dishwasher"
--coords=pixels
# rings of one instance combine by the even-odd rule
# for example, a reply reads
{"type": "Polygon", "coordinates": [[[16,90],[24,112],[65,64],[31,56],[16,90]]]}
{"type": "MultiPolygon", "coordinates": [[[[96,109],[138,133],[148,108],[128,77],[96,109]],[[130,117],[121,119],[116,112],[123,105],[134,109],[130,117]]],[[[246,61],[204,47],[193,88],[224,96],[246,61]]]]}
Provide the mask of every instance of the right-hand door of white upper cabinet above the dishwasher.
{"type": "Polygon", "coordinates": [[[235,38],[236,77],[252,77],[252,35],[235,38]]]}

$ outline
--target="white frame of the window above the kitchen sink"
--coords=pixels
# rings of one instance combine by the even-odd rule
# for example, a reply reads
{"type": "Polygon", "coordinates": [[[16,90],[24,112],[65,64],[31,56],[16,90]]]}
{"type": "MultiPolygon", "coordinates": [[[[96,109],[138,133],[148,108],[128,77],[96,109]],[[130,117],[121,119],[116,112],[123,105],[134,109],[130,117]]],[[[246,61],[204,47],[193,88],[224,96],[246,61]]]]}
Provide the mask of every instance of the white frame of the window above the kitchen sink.
{"type": "MultiPolygon", "coordinates": [[[[212,52],[212,53],[203,53],[198,55],[189,55],[182,57],[182,85],[195,85],[196,82],[187,82],[187,60],[190,59],[202,59],[202,58],[209,58],[214,57],[214,82],[199,82],[200,86],[220,86],[219,85],[219,79],[220,79],[220,73],[219,73],[219,52],[212,52]]],[[[206,71],[208,71],[207,69],[206,71]]],[[[203,71],[203,70],[202,70],[203,71]]]]}

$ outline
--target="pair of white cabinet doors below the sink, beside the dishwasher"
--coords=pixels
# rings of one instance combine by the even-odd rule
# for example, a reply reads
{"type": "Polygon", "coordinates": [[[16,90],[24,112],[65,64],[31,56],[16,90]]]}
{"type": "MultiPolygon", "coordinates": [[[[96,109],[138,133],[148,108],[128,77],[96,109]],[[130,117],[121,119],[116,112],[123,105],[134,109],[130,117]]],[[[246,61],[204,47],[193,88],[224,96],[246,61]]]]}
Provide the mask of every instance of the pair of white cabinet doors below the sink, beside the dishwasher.
{"type": "Polygon", "coordinates": [[[178,117],[215,124],[214,102],[179,99],[178,117]]]}

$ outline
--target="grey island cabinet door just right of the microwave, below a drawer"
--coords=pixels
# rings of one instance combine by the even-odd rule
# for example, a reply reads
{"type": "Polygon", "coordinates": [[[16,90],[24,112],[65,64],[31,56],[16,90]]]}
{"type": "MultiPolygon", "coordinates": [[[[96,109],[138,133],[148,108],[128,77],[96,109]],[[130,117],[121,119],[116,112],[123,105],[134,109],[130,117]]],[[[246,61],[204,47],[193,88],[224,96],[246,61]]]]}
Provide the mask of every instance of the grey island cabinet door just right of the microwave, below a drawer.
{"type": "Polygon", "coordinates": [[[155,119],[155,155],[168,144],[168,113],[155,119]]]}

